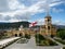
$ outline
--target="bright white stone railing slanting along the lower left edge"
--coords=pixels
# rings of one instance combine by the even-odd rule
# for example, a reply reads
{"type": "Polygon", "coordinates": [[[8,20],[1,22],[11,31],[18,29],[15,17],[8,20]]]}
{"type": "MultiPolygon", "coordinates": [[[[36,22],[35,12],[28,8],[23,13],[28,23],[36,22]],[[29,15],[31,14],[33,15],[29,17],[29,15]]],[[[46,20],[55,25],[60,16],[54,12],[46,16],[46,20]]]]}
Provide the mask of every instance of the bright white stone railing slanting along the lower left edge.
{"type": "Polygon", "coordinates": [[[17,40],[20,37],[12,37],[8,39],[3,39],[0,41],[0,49],[3,49],[4,47],[9,46],[10,44],[14,42],[17,40]]]}

